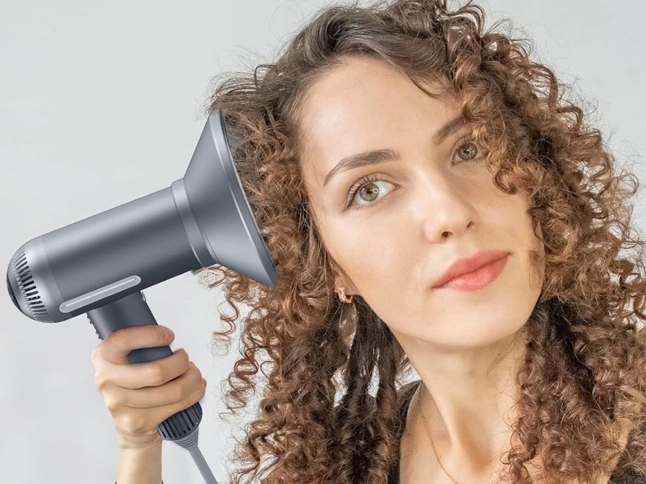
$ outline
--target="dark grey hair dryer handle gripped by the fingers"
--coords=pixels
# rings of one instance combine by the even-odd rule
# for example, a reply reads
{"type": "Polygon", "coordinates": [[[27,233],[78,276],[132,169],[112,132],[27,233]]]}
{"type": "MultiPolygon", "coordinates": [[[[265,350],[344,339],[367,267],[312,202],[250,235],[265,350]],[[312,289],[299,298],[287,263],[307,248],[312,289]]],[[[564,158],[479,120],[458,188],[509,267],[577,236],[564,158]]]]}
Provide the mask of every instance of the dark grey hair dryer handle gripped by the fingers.
{"type": "MultiPolygon", "coordinates": [[[[157,324],[155,321],[144,293],[133,292],[128,296],[113,301],[106,306],[91,309],[87,312],[90,323],[96,330],[100,340],[115,330],[128,328],[135,325],[157,324]]],[[[173,350],[168,345],[152,348],[138,348],[128,353],[130,363],[153,362],[160,358],[169,357],[173,350]]],[[[181,440],[192,434],[192,438],[198,438],[198,432],[194,432],[202,420],[202,405],[200,402],[193,403],[189,408],[171,415],[164,422],[159,424],[157,432],[166,440],[181,440]]]]}

